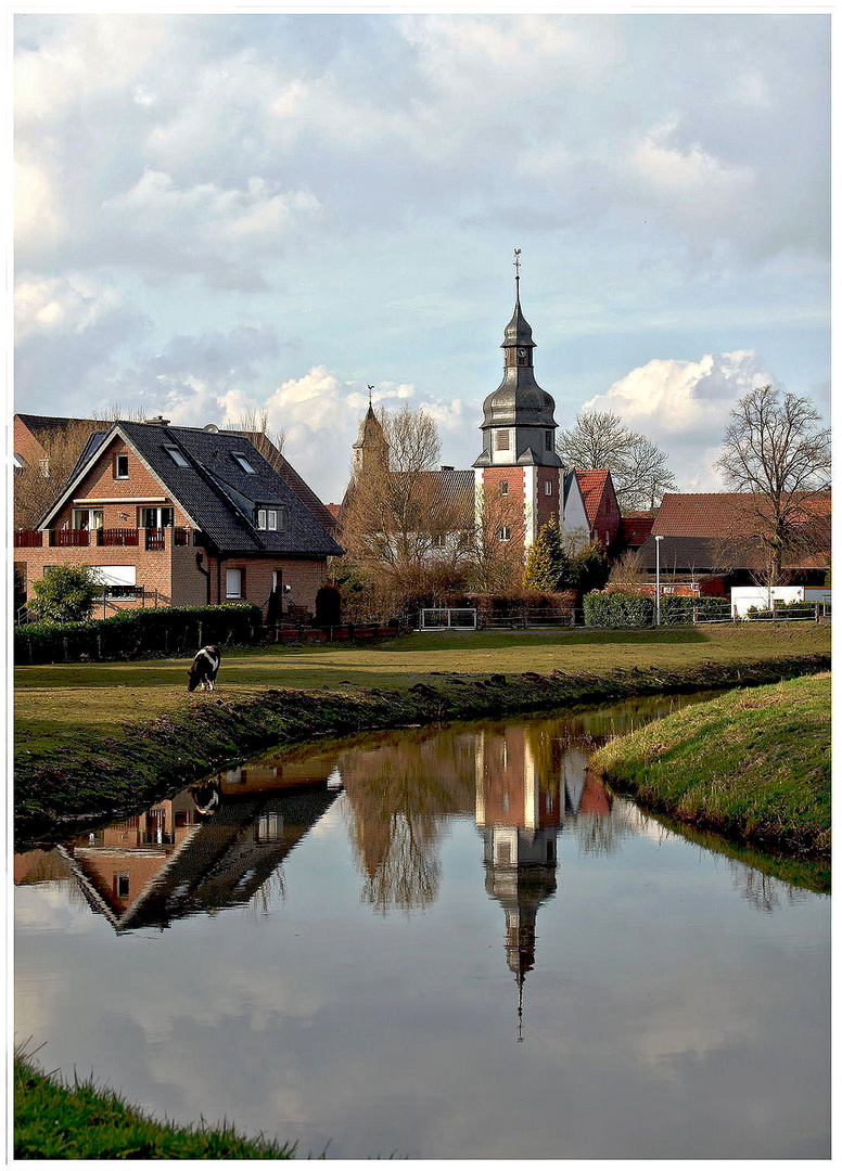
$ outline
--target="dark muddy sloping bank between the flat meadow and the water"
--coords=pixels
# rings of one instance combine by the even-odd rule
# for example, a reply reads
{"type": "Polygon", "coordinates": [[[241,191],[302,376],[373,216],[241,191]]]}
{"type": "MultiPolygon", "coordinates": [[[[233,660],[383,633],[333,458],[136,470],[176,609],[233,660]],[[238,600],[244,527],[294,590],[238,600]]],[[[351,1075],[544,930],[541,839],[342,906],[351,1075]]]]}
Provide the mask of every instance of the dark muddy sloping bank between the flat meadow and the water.
{"type": "Polygon", "coordinates": [[[82,822],[128,816],[272,745],[634,696],[754,686],[829,667],[829,655],[814,653],[740,664],[708,662],[686,671],[632,667],[598,676],[431,673],[429,683],[409,691],[271,689],[241,700],[200,692],[186,715],[126,724],[107,737],[80,732],[49,753],[22,749],[15,761],[15,841],[47,842],[82,822]]]}

